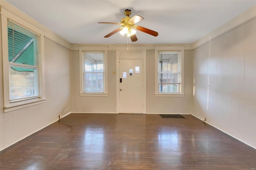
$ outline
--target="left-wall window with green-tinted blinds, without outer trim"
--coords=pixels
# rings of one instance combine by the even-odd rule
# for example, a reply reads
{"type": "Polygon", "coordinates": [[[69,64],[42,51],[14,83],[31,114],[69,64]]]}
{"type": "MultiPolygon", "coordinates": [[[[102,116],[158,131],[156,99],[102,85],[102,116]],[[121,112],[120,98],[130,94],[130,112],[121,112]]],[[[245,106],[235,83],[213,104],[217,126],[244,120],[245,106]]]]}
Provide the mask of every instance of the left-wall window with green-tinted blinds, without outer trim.
{"type": "Polygon", "coordinates": [[[40,97],[40,36],[8,21],[10,103],[40,97]]]}

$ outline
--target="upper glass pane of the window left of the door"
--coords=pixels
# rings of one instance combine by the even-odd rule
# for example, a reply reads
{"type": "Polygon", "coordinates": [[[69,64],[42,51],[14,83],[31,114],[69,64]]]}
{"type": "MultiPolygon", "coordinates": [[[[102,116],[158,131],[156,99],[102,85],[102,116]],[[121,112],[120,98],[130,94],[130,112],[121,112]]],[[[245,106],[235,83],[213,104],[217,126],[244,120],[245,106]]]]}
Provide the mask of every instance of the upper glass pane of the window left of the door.
{"type": "Polygon", "coordinates": [[[103,72],[103,53],[85,53],[85,71],[103,72]]]}

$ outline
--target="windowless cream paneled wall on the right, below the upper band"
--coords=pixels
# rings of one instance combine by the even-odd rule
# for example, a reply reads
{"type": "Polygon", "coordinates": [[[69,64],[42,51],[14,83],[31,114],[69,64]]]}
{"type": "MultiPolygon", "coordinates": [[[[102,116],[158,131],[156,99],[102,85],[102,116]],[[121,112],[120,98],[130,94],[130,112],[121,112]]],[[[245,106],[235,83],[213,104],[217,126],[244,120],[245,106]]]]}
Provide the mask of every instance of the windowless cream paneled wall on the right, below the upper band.
{"type": "Polygon", "coordinates": [[[193,51],[192,115],[256,148],[256,18],[193,51]]]}

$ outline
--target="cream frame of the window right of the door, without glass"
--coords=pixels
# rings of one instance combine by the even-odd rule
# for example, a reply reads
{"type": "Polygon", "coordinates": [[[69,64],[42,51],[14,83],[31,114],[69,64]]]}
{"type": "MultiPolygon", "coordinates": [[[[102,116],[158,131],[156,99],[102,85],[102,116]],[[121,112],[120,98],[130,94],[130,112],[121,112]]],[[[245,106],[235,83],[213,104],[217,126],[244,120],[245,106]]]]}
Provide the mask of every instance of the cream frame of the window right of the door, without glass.
{"type": "Polygon", "coordinates": [[[156,46],[155,47],[155,97],[184,97],[184,46],[156,46]],[[159,53],[162,51],[178,52],[180,66],[180,92],[159,93],[159,53]]]}

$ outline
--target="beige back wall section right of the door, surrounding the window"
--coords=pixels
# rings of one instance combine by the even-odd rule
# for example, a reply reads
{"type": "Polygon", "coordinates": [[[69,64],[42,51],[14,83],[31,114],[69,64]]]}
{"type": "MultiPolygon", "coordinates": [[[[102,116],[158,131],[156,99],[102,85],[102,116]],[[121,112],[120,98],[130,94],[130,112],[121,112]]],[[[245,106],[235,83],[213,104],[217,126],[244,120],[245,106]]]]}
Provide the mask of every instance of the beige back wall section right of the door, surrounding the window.
{"type": "Polygon", "coordinates": [[[192,51],[184,52],[184,97],[155,97],[155,51],[146,52],[147,113],[190,114],[192,51]]]}

